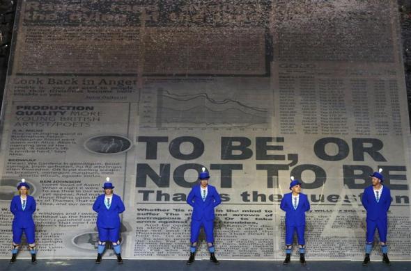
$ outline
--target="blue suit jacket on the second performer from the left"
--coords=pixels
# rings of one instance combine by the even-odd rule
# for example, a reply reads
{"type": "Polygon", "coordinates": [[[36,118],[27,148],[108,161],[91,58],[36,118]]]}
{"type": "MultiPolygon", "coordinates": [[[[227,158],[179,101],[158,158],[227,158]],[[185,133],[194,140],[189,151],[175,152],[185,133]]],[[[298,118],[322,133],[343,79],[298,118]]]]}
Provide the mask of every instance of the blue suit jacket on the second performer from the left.
{"type": "Polygon", "coordinates": [[[110,208],[107,210],[107,207],[104,204],[104,196],[104,194],[98,196],[93,204],[93,211],[98,213],[97,227],[107,229],[120,227],[120,217],[118,215],[125,211],[125,206],[121,197],[113,194],[110,208]]]}

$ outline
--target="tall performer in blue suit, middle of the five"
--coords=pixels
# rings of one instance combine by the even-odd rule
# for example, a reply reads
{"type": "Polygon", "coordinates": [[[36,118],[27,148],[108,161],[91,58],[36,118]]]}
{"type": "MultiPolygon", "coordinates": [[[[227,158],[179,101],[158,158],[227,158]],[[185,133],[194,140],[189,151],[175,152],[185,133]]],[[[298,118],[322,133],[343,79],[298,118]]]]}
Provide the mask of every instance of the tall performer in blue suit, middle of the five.
{"type": "Polygon", "coordinates": [[[187,264],[194,262],[196,245],[199,239],[201,227],[203,227],[206,232],[206,241],[208,251],[210,252],[210,261],[218,264],[219,261],[217,261],[214,254],[214,208],[222,202],[222,199],[220,198],[217,189],[208,184],[210,175],[206,172],[206,167],[202,168],[202,172],[199,174],[199,179],[200,184],[193,186],[187,196],[187,204],[193,207],[190,238],[192,245],[190,247],[190,255],[187,264]]]}

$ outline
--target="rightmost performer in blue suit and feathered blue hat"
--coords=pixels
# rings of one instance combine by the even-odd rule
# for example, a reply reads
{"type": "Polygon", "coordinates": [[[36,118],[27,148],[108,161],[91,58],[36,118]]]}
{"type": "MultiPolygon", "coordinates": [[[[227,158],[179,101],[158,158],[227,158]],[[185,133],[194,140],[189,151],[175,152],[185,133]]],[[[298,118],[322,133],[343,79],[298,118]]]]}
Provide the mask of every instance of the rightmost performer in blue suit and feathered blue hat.
{"type": "Polygon", "coordinates": [[[362,205],[366,209],[366,245],[365,258],[362,265],[368,265],[370,262],[370,253],[373,249],[375,229],[378,229],[382,249],[382,261],[391,265],[387,252],[387,229],[388,217],[387,212],[391,205],[391,192],[387,186],[382,186],[384,176],[381,174],[382,169],[374,172],[371,176],[372,186],[364,189],[362,194],[362,205]]]}

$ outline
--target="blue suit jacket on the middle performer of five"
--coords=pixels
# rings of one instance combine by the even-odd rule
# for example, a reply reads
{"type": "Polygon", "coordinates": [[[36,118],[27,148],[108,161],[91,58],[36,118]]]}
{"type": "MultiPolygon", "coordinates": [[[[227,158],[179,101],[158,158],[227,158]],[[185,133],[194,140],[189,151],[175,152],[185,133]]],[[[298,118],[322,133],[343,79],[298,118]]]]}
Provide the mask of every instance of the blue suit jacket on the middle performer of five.
{"type": "Polygon", "coordinates": [[[219,193],[214,186],[207,186],[208,192],[206,201],[203,201],[201,197],[200,185],[193,186],[192,190],[187,196],[187,204],[193,207],[192,219],[201,220],[201,218],[206,218],[206,220],[214,220],[214,208],[222,203],[222,199],[219,197],[219,193]]]}

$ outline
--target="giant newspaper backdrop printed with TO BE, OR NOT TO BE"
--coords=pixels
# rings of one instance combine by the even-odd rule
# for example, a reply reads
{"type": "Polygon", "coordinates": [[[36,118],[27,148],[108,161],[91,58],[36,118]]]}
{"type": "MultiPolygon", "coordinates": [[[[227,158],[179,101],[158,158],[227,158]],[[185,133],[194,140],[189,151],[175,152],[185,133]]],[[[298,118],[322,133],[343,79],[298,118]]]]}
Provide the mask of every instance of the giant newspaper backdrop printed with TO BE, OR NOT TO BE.
{"type": "Polygon", "coordinates": [[[409,259],[397,9],[395,0],[20,1],[2,108],[0,255],[25,178],[38,255],[94,257],[91,206],[109,176],[126,206],[124,256],[187,258],[185,199],[204,166],[223,199],[219,258],[284,257],[279,202],[295,176],[311,202],[307,257],[360,259],[360,199],[381,167],[390,257],[409,259]]]}

